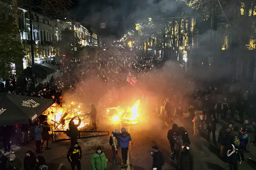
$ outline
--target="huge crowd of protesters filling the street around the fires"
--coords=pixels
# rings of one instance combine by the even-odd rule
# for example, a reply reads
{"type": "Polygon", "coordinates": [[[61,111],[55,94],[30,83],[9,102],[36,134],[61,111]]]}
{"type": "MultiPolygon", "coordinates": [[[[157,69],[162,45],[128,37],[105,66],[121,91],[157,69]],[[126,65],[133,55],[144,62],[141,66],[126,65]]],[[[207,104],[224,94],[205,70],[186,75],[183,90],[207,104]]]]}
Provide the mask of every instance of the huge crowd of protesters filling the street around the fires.
{"type": "MultiPolygon", "coordinates": [[[[207,130],[207,141],[210,141],[210,135],[212,134],[213,142],[217,144],[215,136],[217,124],[220,121],[227,121],[229,110],[231,118],[234,118],[236,111],[238,111],[238,121],[242,124],[241,127],[233,127],[232,123],[228,123],[227,126],[222,127],[218,136],[218,143],[221,145],[220,157],[229,163],[231,169],[237,169],[237,163],[241,164],[242,161],[245,161],[244,153],[249,152],[250,145],[256,145],[256,134],[254,134],[256,132],[254,132],[256,128],[256,109],[253,88],[250,87],[247,91],[231,88],[230,84],[223,83],[223,81],[214,84],[212,87],[207,87],[204,80],[186,77],[186,75],[182,75],[184,70],[182,68],[176,69],[176,66],[176,63],[170,65],[165,63],[163,65],[154,57],[140,54],[137,51],[112,47],[98,52],[97,57],[82,59],[79,64],[66,61],[61,63],[61,70],[63,71],[61,76],[52,77],[49,82],[34,86],[33,83],[29,84],[24,80],[25,91],[21,95],[49,98],[61,105],[64,102],[63,94],[69,93],[86,98],[87,101],[90,100],[90,103],[95,103],[97,107],[102,107],[103,104],[111,105],[122,100],[120,89],[125,85],[128,72],[131,72],[139,80],[136,87],[147,91],[145,96],[149,94],[148,91],[152,93],[150,96],[154,96],[154,100],[151,100],[154,103],[150,104],[148,109],[154,109],[167,123],[173,122],[174,119],[180,119],[184,124],[184,127],[173,124],[167,135],[171,146],[172,159],[177,160],[177,168],[179,169],[193,169],[194,166],[188,134],[191,133],[199,137],[202,131],[207,130]],[[173,70],[169,70],[170,67],[173,70]],[[99,86],[104,88],[99,88],[99,86]],[[254,140],[251,140],[251,137],[254,140]]],[[[178,65],[178,67],[180,66],[178,65]]],[[[8,79],[5,86],[0,81],[1,92],[15,94],[15,89],[14,77],[8,79]]],[[[146,101],[146,99],[143,101],[146,101]]],[[[93,126],[97,130],[96,108],[95,110],[92,109],[92,113],[95,114],[93,126]]],[[[73,125],[71,123],[70,126],[73,125]]],[[[46,141],[46,149],[51,149],[48,146],[49,125],[47,122],[44,122],[43,125],[35,122],[33,125],[34,131],[37,133],[34,136],[37,153],[42,153],[42,140],[46,141]]],[[[78,170],[81,169],[82,150],[77,142],[78,135],[75,133],[78,126],[74,126],[74,136],[67,155],[72,170],[75,166],[78,170]]],[[[2,129],[2,139],[5,142],[4,149],[6,153],[10,150],[10,143],[7,142],[10,134],[7,133],[8,130],[4,130],[5,128],[2,129]]],[[[29,144],[29,130],[31,130],[29,125],[16,125],[16,131],[22,144],[29,144]]],[[[112,132],[112,143],[110,141],[110,145],[113,151],[113,164],[117,164],[116,151],[118,147],[121,147],[123,167],[127,168],[127,154],[131,136],[125,128],[122,128],[121,131],[122,133],[119,133],[119,130],[116,129],[115,132],[112,132]]],[[[154,160],[153,169],[161,170],[164,165],[163,154],[157,146],[152,147],[152,149],[154,150],[151,153],[154,160]]],[[[17,165],[11,165],[12,167],[21,166],[21,161],[15,155],[10,158],[17,160],[17,165]]],[[[0,159],[5,158],[2,156],[0,159]]],[[[101,151],[101,147],[98,147],[96,153],[92,156],[92,169],[105,169],[105,159],[106,156],[101,151]]],[[[26,163],[24,160],[24,167],[27,167],[25,169],[31,169],[29,164],[41,166],[41,169],[47,168],[45,160],[42,157],[36,158],[32,151],[27,152],[26,163]]]]}

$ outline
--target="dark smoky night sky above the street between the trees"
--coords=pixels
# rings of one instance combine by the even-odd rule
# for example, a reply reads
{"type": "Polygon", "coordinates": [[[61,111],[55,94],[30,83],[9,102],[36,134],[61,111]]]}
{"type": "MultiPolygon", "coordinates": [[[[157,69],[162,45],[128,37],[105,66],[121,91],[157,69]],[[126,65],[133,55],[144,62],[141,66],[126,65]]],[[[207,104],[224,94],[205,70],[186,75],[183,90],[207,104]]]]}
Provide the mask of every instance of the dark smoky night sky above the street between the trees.
{"type": "Polygon", "coordinates": [[[121,37],[127,30],[135,29],[135,22],[154,0],[74,0],[72,13],[83,26],[92,28],[103,36],[121,37]],[[106,29],[100,29],[100,23],[106,29]]]}

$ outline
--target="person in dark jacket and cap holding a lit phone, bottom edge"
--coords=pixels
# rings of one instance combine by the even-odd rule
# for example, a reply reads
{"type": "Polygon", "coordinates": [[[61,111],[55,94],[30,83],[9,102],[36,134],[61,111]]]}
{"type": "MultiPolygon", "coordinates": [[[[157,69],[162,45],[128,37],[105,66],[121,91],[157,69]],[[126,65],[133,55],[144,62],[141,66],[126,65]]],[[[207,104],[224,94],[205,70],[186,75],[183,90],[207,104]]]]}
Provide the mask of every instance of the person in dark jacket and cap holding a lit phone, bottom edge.
{"type": "Polygon", "coordinates": [[[159,151],[158,146],[153,146],[152,149],[154,150],[151,152],[153,157],[153,169],[157,168],[157,170],[162,170],[162,166],[164,166],[164,155],[162,152],[159,151]]]}

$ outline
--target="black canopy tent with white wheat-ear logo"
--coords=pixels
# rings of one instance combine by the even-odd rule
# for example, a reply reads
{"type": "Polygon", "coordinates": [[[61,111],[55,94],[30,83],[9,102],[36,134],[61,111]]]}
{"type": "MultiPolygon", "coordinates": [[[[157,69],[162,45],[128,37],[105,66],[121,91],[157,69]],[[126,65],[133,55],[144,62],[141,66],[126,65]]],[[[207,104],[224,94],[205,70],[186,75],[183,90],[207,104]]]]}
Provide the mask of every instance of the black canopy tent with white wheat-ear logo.
{"type": "Polygon", "coordinates": [[[53,103],[51,99],[0,93],[0,126],[33,122],[53,103]]]}

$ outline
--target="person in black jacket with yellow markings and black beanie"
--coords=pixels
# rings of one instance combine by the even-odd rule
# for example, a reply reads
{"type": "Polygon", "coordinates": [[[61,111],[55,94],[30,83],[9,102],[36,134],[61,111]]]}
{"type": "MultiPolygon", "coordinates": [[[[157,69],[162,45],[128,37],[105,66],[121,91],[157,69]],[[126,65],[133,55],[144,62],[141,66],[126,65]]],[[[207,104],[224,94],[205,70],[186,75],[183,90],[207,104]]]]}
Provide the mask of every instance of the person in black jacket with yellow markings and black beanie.
{"type": "Polygon", "coordinates": [[[77,167],[78,170],[81,170],[81,163],[80,160],[82,158],[82,149],[78,145],[78,142],[74,142],[74,146],[70,147],[68,154],[67,154],[67,159],[71,164],[71,169],[74,170],[75,166],[77,167]]]}

